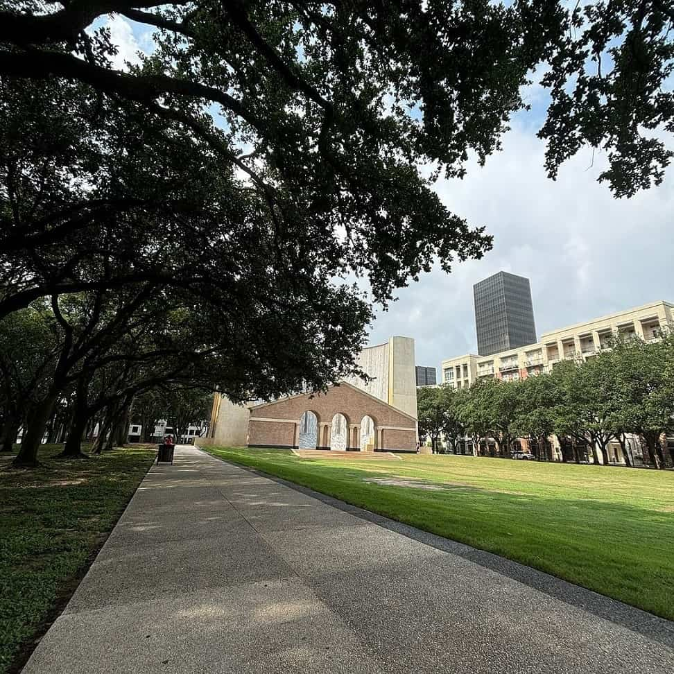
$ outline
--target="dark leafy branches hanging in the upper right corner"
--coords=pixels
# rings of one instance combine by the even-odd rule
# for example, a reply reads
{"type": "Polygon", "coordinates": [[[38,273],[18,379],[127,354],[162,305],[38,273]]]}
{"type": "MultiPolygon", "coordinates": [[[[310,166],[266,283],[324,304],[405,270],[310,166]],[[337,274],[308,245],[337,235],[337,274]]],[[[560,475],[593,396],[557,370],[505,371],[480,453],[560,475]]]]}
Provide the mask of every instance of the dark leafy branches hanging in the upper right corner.
{"type": "Polygon", "coordinates": [[[588,144],[607,152],[610,166],[599,180],[617,197],[662,183],[674,155],[663,139],[674,131],[673,20],[670,4],[659,0],[577,6],[542,80],[552,96],[539,132],[551,178],[588,144]]]}

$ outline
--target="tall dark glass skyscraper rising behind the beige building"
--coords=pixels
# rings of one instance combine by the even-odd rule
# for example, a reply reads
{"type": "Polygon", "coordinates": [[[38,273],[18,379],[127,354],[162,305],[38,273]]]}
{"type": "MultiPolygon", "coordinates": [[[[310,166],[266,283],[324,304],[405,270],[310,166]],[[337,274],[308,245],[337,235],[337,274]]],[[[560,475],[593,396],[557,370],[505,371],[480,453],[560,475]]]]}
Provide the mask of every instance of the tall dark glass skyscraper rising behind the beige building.
{"type": "Polygon", "coordinates": [[[476,283],[473,296],[479,355],[535,343],[529,279],[499,272],[476,283]]]}

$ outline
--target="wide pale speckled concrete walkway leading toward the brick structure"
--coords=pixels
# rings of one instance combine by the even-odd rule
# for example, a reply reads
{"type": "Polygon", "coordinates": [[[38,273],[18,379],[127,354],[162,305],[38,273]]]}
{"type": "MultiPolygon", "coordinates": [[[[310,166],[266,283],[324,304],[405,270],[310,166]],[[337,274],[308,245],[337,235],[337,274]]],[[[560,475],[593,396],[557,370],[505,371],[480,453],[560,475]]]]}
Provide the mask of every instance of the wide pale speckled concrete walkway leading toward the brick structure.
{"type": "Polygon", "coordinates": [[[648,614],[597,598],[576,588],[569,603],[179,447],[24,672],[674,671],[672,623],[648,636],[625,611],[648,614]],[[579,606],[595,600],[622,624],[579,606]]]}

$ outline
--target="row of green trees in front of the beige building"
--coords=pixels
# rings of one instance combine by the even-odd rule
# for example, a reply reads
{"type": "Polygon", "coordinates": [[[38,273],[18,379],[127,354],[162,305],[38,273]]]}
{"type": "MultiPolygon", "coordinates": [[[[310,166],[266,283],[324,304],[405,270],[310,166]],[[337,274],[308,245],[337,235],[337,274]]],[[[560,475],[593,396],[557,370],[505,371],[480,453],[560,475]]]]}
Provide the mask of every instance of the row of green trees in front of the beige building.
{"type": "Polygon", "coordinates": [[[668,463],[662,437],[674,428],[674,336],[655,343],[616,338],[585,362],[560,361],[551,372],[519,381],[421,388],[417,404],[420,435],[434,452],[446,451],[444,438],[447,451],[463,453],[469,438],[478,454],[509,457],[524,439],[537,458],[549,458],[556,436],[564,462],[580,462],[583,447],[595,465],[599,455],[608,465],[615,441],[631,465],[626,441],[633,434],[648,463],[662,468],[668,463]]]}

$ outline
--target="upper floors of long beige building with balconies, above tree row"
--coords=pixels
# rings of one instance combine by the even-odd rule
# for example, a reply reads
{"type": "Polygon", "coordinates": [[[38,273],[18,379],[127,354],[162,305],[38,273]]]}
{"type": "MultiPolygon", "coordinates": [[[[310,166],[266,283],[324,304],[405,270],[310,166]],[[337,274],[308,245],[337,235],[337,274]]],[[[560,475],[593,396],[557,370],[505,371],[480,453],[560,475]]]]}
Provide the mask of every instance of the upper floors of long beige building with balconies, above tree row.
{"type": "Polygon", "coordinates": [[[442,382],[464,388],[482,377],[503,381],[526,379],[531,374],[549,372],[555,363],[567,359],[592,358],[607,346],[614,335],[657,339],[663,328],[674,327],[674,304],[651,302],[609,316],[552,330],[535,344],[508,351],[477,356],[465,354],[442,361],[442,382]]]}

